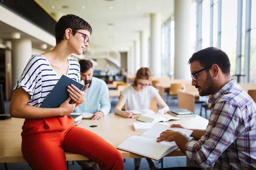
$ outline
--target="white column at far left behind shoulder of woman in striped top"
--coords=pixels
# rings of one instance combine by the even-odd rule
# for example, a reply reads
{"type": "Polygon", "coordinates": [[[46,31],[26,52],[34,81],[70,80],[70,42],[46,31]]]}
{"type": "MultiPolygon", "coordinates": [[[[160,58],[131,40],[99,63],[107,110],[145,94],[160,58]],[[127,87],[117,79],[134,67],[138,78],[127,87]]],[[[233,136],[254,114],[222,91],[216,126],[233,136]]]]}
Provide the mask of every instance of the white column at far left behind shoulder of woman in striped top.
{"type": "Polygon", "coordinates": [[[32,57],[31,40],[12,40],[12,85],[15,86],[17,80],[23,73],[26,63],[32,57]]]}

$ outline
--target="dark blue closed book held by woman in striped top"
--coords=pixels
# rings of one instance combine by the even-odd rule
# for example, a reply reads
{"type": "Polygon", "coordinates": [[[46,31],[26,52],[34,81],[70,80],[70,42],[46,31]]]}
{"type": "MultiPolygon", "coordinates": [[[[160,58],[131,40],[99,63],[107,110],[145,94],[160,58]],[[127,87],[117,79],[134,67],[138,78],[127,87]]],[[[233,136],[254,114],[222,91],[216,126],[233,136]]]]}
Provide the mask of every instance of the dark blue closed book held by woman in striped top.
{"type": "MultiPolygon", "coordinates": [[[[52,91],[48,94],[40,108],[58,108],[60,105],[68,99],[69,93],[67,92],[67,86],[75,85],[81,91],[84,90],[85,86],[70,79],[67,76],[62,75],[58,80],[57,84],[54,86],[52,91]]],[[[73,100],[70,100],[69,104],[72,104],[73,100]]]]}

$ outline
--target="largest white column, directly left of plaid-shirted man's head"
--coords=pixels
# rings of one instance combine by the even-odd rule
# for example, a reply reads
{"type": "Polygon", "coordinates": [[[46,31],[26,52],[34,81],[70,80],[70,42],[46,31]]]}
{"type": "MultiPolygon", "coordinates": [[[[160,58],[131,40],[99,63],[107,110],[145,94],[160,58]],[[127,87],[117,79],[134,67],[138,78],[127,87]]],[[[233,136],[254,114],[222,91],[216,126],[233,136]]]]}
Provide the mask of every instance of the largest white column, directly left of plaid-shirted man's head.
{"type": "Polygon", "coordinates": [[[190,66],[190,0],[175,0],[174,78],[191,79],[190,66]]]}

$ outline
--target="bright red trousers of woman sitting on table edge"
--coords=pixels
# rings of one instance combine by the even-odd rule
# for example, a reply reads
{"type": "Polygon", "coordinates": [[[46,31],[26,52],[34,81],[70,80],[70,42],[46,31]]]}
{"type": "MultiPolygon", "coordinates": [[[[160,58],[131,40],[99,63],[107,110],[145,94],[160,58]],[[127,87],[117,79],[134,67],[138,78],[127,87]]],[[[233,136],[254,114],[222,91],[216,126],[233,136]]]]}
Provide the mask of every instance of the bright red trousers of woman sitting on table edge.
{"type": "Polygon", "coordinates": [[[123,170],[122,154],[100,136],[76,127],[70,116],[26,119],[21,150],[33,170],[67,170],[64,151],[81,154],[101,170],[123,170]]]}

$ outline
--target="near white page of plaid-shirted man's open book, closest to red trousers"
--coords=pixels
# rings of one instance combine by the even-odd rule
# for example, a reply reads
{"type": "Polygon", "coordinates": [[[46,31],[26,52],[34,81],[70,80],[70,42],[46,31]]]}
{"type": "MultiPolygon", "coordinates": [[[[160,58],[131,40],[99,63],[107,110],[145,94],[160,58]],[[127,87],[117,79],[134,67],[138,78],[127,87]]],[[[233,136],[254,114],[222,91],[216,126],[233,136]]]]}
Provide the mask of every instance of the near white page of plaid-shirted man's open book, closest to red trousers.
{"type": "Polygon", "coordinates": [[[117,148],[158,160],[170,147],[177,148],[172,144],[159,143],[140,136],[131,136],[119,144],[117,148]]]}

